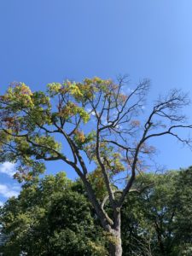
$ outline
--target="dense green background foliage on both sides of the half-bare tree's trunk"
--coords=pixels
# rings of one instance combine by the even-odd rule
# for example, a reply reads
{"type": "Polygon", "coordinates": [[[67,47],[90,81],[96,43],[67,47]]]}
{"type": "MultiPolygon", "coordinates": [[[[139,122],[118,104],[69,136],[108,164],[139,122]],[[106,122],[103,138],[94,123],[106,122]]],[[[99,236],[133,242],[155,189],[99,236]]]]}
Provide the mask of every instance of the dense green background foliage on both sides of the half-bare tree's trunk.
{"type": "MultiPolygon", "coordinates": [[[[192,252],[192,168],[137,177],[122,210],[124,255],[189,256],[192,252]]],[[[108,210],[110,215],[110,209],[108,210]]],[[[1,210],[10,238],[5,255],[108,255],[108,234],[80,182],[63,173],[24,185],[1,210]]]]}

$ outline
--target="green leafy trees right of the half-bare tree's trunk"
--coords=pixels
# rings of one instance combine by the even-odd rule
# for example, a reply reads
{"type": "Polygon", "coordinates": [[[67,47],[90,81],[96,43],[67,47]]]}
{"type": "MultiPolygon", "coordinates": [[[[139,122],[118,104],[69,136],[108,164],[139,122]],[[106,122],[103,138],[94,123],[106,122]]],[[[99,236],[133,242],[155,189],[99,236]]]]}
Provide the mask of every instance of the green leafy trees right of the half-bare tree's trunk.
{"type": "Polygon", "coordinates": [[[137,183],[149,186],[141,193],[134,191],[125,200],[122,211],[125,255],[191,255],[191,179],[191,167],[137,178],[137,183]]]}

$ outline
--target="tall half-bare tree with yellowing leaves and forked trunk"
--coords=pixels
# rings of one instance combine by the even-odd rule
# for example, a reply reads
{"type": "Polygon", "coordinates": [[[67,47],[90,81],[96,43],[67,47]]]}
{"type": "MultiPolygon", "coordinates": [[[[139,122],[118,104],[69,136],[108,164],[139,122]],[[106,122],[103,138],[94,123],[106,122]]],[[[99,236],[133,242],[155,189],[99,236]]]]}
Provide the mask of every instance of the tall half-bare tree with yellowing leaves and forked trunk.
{"type": "Polygon", "coordinates": [[[148,116],[138,119],[148,87],[148,80],[131,90],[124,78],[118,84],[95,78],[48,84],[46,92],[32,92],[19,83],[0,98],[0,162],[15,162],[19,180],[44,172],[43,161],[61,160],[72,166],[108,233],[110,255],[122,255],[120,212],[137,172],[143,172],[146,158],[154,153],[148,141],[170,135],[190,143],[178,135],[178,130],[192,128],[180,113],[189,104],[180,90],[159,97],[148,116]],[[102,175],[102,198],[90,181],[89,161],[102,175]],[[122,189],[117,178],[123,177],[122,189]],[[104,209],[107,201],[110,214],[104,209]]]}

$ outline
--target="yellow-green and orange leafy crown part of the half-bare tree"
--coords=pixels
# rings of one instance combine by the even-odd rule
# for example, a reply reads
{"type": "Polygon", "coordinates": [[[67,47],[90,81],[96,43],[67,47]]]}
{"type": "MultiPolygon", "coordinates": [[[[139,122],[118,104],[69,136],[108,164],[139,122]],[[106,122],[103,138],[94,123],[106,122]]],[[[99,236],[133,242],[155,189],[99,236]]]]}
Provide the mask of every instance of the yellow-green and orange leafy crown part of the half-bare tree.
{"type": "MultiPolygon", "coordinates": [[[[124,131],[124,122],[129,125],[127,131],[131,132],[141,126],[137,119],[129,121],[126,115],[120,115],[127,97],[113,80],[97,77],[84,79],[83,82],[65,80],[63,83],[48,84],[45,92],[32,91],[23,83],[14,84],[0,98],[0,144],[2,151],[6,152],[1,159],[7,158],[14,162],[21,160],[16,176],[30,179],[33,177],[34,162],[64,159],[64,142],[69,139],[98,165],[97,129],[108,126],[105,136],[113,137],[116,131],[124,131]],[[122,124],[114,119],[119,119],[122,124]],[[58,134],[63,137],[63,143],[57,143],[55,137],[58,134]]],[[[110,175],[125,171],[119,147],[100,142],[99,151],[110,175]]]]}

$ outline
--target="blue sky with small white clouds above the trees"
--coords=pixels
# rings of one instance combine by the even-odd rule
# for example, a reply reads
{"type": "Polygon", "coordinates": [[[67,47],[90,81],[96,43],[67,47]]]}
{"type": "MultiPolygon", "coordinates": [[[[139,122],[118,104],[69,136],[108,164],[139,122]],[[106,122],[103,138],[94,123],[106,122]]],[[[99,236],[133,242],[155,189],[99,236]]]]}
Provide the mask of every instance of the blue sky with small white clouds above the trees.
{"type": "MultiPolygon", "coordinates": [[[[32,90],[64,79],[129,74],[151,80],[148,101],[172,88],[192,98],[191,0],[0,1],[0,95],[13,81],[32,90]]],[[[191,107],[186,114],[191,119],[191,107]]],[[[167,169],[192,165],[191,151],[167,137],[154,142],[167,169]]],[[[63,171],[49,164],[47,173],[63,171]]],[[[74,177],[68,169],[67,176],[74,177]]],[[[17,195],[14,166],[0,166],[0,204],[17,195]]]]}

